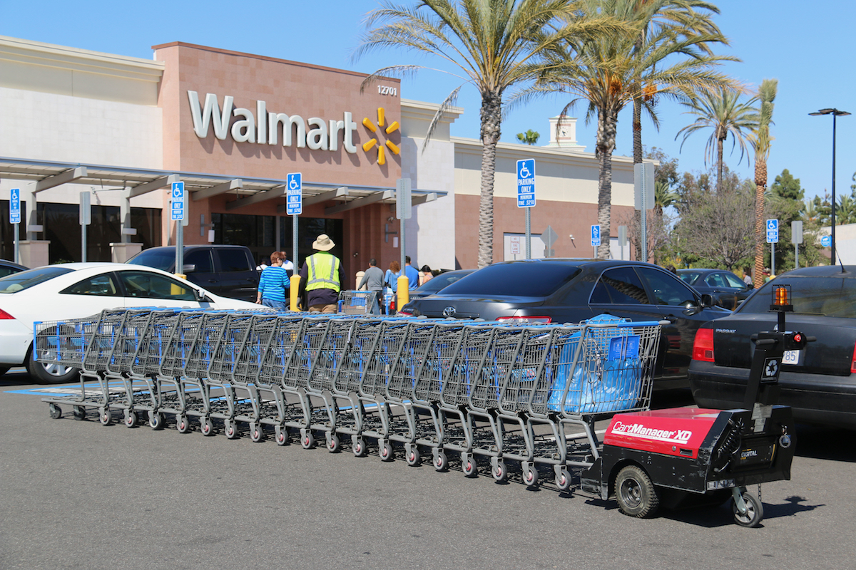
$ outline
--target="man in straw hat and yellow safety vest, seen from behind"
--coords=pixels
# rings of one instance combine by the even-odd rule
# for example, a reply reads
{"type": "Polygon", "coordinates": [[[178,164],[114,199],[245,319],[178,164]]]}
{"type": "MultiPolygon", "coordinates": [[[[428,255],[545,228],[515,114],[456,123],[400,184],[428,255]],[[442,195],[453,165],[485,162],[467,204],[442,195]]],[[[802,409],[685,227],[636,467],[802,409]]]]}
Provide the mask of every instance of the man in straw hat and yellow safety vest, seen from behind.
{"type": "Polygon", "coordinates": [[[306,257],[303,267],[300,267],[300,285],[305,284],[310,313],[336,313],[339,307],[339,291],[345,274],[342,261],[330,253],[334,247],[336,244],[330,236],[322,233],[312,242],[315,253],[306,257]]]}

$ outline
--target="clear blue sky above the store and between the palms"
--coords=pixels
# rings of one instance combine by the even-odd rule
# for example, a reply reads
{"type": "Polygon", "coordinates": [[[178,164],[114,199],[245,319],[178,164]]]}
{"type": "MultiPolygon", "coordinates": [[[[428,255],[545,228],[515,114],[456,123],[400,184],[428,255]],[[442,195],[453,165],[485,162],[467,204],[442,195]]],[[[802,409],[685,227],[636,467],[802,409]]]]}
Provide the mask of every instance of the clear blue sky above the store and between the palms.
{"type": "MultiPolygon", "coordinates": [[[[800,179],[806,197],[823,195],[832,180],[832,118],[808,113],[835,107],[856,114],[853,50],[848,39],[853,35],[856,3],[819,0],[807,9],[804,2],[797,0],[713,1],[722,12],[716,21],[731,44],[722,53],[743,60],[724,66],[726,73],[751,85],[766,78],[779,80],[770,183],[783,168],[788,168],[800,179]]],[[[364,16],[376,7],[375,0],[0,0],[0,35],[146,59],[152,57],[152,45],[182,41],[365,73],[399,63],[438,65],[396,50],[352,61],[360,32],[365,29],[364,16]]],[[[459,84],[448,74],[425,70],[402,82],[401,96],[439,103],[459,84]]],[[[558,115],[565,103],[556,98],[515,109],[502,123],[502,140],[516,142],[515,133],[531,128],[541,133],[539,144],[546,144],[547,119],[558,115]]],[[[465,113],[453,125],[452,133],[478,138],[478,93],[465,87],[458,105],[465,113]]],[[[704,170],[704,143],[709,133],[693,134],[680,151],[681,140],[675,141],[675,134],[692,119],[683,115],[676,103],[664,102],[658,109],[660,130],[655,131],[646,120],[643,143],[676,157],[681,171],[704,170]]],[[[584,112],[585,107],[580,105],[574,115],[582,117],[584,112]]],[[[629,109],[622,112],[618,128],[616,154],[630,155],[629,109]]],[[[586,150],[593,151],[595,126],[586,126],[580,119],[577,140],[586,145],[586,150]]],[[[729,138],[728,166],[741,176],[752,176],[753,165],[746,157],[738,165],[740,150],[729,156],[730,149],[729,138]]],[[[856,115],[837,120],[836,161],[836,194],[849,194],[856,171],[856,115]]]]}

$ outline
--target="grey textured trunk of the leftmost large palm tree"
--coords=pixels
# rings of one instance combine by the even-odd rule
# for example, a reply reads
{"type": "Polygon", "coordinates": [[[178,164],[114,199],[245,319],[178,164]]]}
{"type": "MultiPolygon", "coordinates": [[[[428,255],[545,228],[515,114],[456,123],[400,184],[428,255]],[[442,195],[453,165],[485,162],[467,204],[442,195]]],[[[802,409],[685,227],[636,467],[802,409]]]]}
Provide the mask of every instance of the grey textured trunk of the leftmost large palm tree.
{"type": "Polygon", "coordinates": [[[479,269],[493,263],[493,180],[496,143],[502,123],[502,93],[483,93],[481,107],[482,172],[479,198],[479,269]]]}

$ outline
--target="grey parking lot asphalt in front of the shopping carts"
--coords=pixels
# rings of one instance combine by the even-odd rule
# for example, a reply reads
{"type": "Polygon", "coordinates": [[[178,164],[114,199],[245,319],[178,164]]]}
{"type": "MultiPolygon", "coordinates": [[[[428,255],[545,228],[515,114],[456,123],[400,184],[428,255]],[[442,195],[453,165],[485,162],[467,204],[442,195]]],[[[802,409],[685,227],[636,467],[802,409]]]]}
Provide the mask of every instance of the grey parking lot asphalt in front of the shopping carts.
{"type": "MultiPolygon", "coordinates": [[[[852,432],[800,426],[763,526],[730,509],[623,516],[615,502],[467,479],[453,464],[48,416],[0,379],[0,567],[852,567],[852,432]]],[[[681,397],[675,397],[680,403],[681,397]]],[[[657,403],[655,401],[655,403],[657,403]]],[[[668,405],[675,405],[668,402],[668,405]]],[[[119,419],[119,415],[116,418],[119,419]]],[[[400,452],[401,450],[399,450],[400,452]]],[[[401,455],[401,453],[399,453],[401,455]]]]}

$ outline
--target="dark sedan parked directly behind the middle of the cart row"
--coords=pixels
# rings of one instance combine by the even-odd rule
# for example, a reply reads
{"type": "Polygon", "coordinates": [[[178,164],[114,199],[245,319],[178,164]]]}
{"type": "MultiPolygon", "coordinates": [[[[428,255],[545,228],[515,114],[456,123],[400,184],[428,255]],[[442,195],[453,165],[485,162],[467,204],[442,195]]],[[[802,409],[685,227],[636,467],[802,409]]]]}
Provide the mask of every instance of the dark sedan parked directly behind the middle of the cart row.
{"type": "Polygon", "coordinates": [[[577,323],[603,313],[668,320],[654,372],[663,389],[687,386],[695,332],[730,311],[651,263],[539,259],[483,267],[401,313],[512,322],[577,323]]]}

